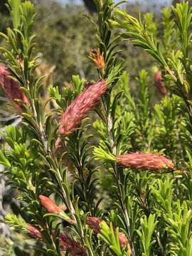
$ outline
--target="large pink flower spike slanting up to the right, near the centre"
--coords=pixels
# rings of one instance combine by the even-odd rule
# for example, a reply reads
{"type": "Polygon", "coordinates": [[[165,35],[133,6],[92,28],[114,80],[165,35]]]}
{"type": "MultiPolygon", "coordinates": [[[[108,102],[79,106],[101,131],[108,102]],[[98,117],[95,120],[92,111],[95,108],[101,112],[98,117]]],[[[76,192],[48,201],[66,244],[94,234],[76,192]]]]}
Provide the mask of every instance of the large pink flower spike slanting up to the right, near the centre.
{"type": "Polygon", "coordinates": [[[74,132],[80,121],[95,107],[106,91],[107,82],[101,80],[81,92],[61,115],[58,133],[65,136],[74,132]]]}

